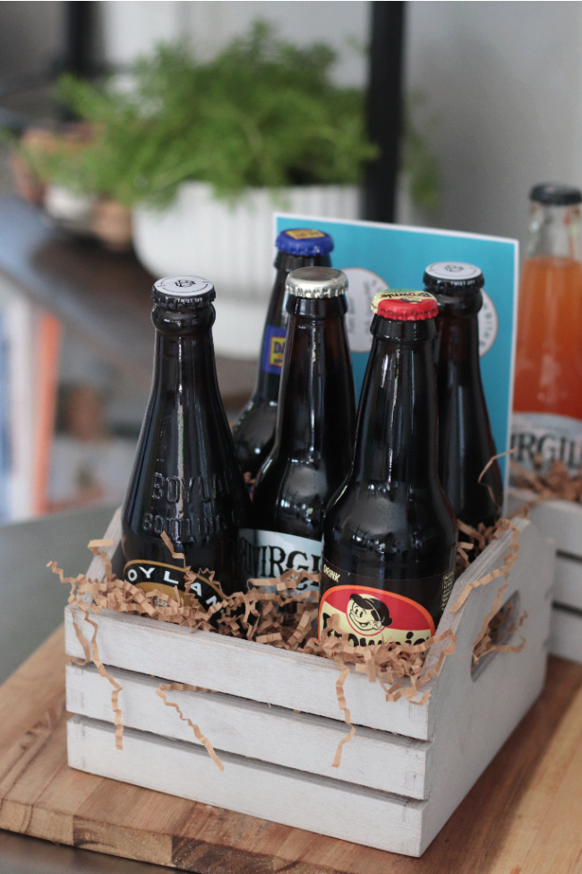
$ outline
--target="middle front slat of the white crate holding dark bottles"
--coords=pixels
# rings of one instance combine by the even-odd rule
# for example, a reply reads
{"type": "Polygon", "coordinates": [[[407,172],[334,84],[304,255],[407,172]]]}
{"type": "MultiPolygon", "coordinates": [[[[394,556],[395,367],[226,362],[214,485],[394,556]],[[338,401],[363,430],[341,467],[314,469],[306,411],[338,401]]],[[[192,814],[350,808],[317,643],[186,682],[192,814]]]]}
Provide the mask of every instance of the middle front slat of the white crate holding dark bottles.
{"type": "MultiPolygon", "coordinates": [[[[173,707],[156,695],[158,680],[130,671],[115,671],[122,686],[119,706],[124,727],[152,731],[161,737],[198,744],[193,729],[173,707]]],[[[67,710],[113,723],[111,686],[92,665],[67,665],[67,710]]],[[[172,690],[185,717],[200,726],[213,747],[276,765],[322,774],[409,798],[424,798],[424,778],[431,742],[360,728],[344,746],[341,766],[332,767],[347,726],[311,714],[295,714],[285,707],[257,704],[220,693],[172,690]]]]}

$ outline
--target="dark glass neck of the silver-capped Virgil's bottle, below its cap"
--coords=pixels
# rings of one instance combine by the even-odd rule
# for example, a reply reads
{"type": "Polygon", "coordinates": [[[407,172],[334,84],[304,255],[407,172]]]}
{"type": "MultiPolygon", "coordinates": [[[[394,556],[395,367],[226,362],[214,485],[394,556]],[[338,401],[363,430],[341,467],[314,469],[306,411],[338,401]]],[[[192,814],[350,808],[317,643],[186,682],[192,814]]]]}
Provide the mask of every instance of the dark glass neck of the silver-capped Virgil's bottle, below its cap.
{"type": "MultiPolygon", "coordinates": [[[[341,436],[326,427],[348,408],[343,374],[350,367],[345,295],[290,299],[274,454],[318,462],[341,436]],[[330,445],[330,446],[328,446],[330,445]]],[[[352,401],[353,403],[353,401],[352,401]]],[[[352,422],[346,422],[352,433],[352,422]]]]}

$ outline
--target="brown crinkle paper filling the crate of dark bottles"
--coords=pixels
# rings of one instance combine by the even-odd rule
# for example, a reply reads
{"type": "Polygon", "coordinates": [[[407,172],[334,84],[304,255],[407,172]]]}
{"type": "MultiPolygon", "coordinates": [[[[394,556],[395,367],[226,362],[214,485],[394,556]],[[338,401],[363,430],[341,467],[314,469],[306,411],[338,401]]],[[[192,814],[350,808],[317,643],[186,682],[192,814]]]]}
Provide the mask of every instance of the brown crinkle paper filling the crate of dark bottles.
{"type": "MultiPolygon", "coordinates": [[[[462,573],[490,542],[501,537],[508,529],[513,530],[513,537],[508,553],[503,559],[502,567],[483,579],[467,584],[458,601],[450,608],[451,610],[460,609],[477,585],[489,584],[501,576],[507,576],[510,567],[518,557],[518,530],[509,520],[501,519],[492,528],[484,528],[483,525],[480,525],[478,529],[459,523],[459,534],[462,539],[458,543],[457,574],[462,573]]],[[[185,567],[184,555],[175,552],[167,535],[163,534],[162,537],[172,557],[181,561],[185,567]]],[[[344,694],[344,684],[352,669],[356,673],[365,674],[370,682],[378,682],[384,693],[385,701],[398,701],[398,698],[405,697],[410,704],[424,705],[430,697],[430,692],[424,690],[424,686],[430,679],[439,674],[443,662],[451,653],[455,652],[457,647],[456,636],[450,631],[432,636],[430,640],[417,645],[397,644],[395,641],[389,640],[374,646],[354,646],[347,640],[347,635],[338,636],[337,617],[332,620],[326,638],[320,641],[315,630],[319,593],[317,591],[295,591],[297,586],[304,583],[305,580],[317,582],[319,576],[303,571],[288,570],[285,574],[274,579],[251,580],[251,588],[248,592],[235,593],[224,601],[219,601],[210,610],[203,610],[201,604],[193,596],[190,596],[191,603],[189,604],[176,601],[167,605],[165,601],[167,596],[164,593],[158,590],[142,592],[141,589],[136,588],[127,580],[119,579],[113,573],[111,562],[103,551],[112,545],[112,541],[103,540],[90,541],[89,544],[89,549],[93,554],[101,556],[105,563],[106,573],[102,580],[88,579],[85,575],[65,577],[63,571],[56,566],[56,562],[49,562],[48,567],[51,567],[54,573],[59,575],[61,582],[71,585],[69,603],[79,607],[82,610],[84,621],[93,627],[90,644],[88,644],[81,634],[81,629],[75,624],[75,632],[85,655],[84,662],[75,661],[79,664],[92,661],[101,676],[107,679],[113,687],[112,708],[115,714],[116,746],[118,749],[123,747],[123,723],[118,702],[121,686],[99,659],[98,626],[90,619],[90,613],[98,613],[103,609],[149,616],[151,619],[186,626],[192,631],[203,630],[220,635],[242,637],[258,644],[332,659],[336,662],[339,672],[336,682],[338,706],[343,711],[345,722],[349,727],[347,735],[338,744],[333,761],[334,767],[339,766],[342,748],[348,740],[354,737],[356,731],[351,722],[344,694]],[[441,646],[439,658],[434,667],[423,672],[426,654],[432,646],[437,644],[444,644],[441,646]]],[[[187,568],[186,591],[189,591],[196,580],[211,580],[213,576],[211,571],[194,573],[192,569],[187,568]]],[[[496,628],[501,627],[497,614],[504,589],[505,586],[502,586],[492,611],[484,620],[484,627],[475,641],[474,662],[483,658],[486,653],[492,651],[516,652],[523,645],[523,643],[517,647],[502,645],[497,640],[496,628]]],[[[521,620],[517,621],[520,624],[521,620]]],[[[191,726],[197,740],[207,749],[210,757],[222,770],[223,765],[210,740],[204,736],[198,725],[184,716],[175,702],[167,698],[167,692],[184,689],[210,692],[210,689],[186,686],[181,683],[160,683],[156,692],[165,705],[173,707],[180,719],[191,726]]]]}

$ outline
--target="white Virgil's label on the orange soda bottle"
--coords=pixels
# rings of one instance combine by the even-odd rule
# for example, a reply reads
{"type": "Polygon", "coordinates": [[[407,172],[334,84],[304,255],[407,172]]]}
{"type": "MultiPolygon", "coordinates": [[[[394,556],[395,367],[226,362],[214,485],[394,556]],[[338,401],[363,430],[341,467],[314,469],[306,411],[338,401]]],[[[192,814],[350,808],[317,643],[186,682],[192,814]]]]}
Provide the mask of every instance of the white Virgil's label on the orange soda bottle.
{"type": "Polygon", "coordinates": [[[511,448],[511,460],[528,471],[540,460],[545,470],[558,461],[577,473],[582,466],[582,422],[553,413],[514,412],[511,448]]]}

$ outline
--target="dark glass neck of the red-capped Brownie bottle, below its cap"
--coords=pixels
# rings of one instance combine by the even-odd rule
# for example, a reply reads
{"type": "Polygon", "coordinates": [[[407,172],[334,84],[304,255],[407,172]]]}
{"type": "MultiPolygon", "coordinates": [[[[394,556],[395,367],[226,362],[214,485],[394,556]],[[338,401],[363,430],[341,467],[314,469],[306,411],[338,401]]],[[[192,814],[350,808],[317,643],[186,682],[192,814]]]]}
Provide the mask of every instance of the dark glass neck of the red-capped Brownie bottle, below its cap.
{"type": "Polygon", "coordinates": [[[374,316],[372,333],[351,480],[406,498],[437,479],[434,321],[374,316]]]}

